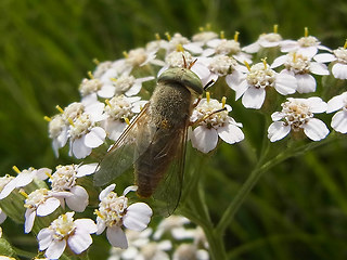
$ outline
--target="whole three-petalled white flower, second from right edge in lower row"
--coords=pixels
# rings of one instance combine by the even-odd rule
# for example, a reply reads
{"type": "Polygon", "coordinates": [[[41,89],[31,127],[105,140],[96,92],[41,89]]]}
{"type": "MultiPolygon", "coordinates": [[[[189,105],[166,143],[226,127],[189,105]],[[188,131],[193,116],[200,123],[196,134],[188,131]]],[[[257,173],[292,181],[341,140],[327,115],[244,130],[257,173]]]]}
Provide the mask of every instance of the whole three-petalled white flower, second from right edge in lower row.
{"type": "Polygon", "coordinates": [[[272,122],[268,129],[268,138],[271,142],[279,141],[291,131],[304,133],[312,141],[320,141],[329,134],[325,123],[313,118],[313,113],[324,113],[326,103],[320,98],[292,99],[282,103],[282,112],[271,115],[272,122]]]}

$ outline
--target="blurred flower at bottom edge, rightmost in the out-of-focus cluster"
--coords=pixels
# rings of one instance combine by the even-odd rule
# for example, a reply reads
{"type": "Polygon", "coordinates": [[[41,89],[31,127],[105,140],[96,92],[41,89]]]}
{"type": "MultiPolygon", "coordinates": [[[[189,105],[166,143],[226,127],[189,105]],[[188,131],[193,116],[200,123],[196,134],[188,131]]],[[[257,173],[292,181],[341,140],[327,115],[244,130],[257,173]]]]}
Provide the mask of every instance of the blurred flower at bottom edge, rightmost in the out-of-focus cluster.
{"type": "Polygon", "coordinates": [[[174,252],[172,260],[185,260],[185,259],[196,259],[196,260],[208,260],[208,252],[204,249],[198,249],[192,244],[181,244],[174,252]]]}

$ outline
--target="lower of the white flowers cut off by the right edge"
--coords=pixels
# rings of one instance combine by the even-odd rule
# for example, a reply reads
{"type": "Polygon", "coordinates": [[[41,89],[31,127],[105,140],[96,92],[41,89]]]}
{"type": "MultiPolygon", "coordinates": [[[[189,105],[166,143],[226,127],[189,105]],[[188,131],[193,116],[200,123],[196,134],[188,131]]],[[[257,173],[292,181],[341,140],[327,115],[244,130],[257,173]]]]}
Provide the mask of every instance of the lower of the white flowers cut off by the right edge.
{"type": "Polygon", "coordinates": [[[347,133],[347,92],[334,96],[327,102],[326,113],[338,110],[332,118],[332,128],[340,133],[347,133]]]}

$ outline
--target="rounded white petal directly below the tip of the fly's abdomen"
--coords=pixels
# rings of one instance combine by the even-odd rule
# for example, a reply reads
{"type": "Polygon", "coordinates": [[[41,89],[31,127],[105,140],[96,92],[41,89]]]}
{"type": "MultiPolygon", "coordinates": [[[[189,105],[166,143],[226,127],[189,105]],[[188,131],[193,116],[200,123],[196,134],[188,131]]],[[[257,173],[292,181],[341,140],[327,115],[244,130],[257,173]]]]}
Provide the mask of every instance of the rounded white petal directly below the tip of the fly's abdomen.
{"type": "Polygon", "coordinates": [[[143,231],[150,223],[152,213],[149,205],[144,203],[132,204],[123,217],[123,224],[130,230],[143,231]]]}

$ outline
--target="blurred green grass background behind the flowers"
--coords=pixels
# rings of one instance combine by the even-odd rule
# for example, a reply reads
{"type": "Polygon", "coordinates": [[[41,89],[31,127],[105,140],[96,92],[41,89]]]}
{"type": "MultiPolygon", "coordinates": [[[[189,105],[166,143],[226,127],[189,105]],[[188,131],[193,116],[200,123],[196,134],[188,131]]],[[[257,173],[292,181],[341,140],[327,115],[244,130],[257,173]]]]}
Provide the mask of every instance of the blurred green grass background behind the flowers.
{"type": "MultiPolygon", "coordinates": [[[[191,37],[209,23],[227,37],[240,31],[240,41],[248,44],[274,24],[291,39],[301,37],[307,26],[332,49],[347,37],[344,0],[1,0],[0,10],[1,174],[12,173],[13,165],[68,162],[66,155],[54,158],[43,116],[79,99],[78,84],[94,68],[94,57],[119,58],[156,32],[191,37]]],[[[246,119],[236,119],[247,127],[246,119]]],[[[210,160],[215,188],[226,178],[218,167],[232,167],[230,192],[217,197],[232,198],[245,180],[241,155],[221,145],[210,160]]],[[[266,174],[228,231],[232,259],[347,259],[345,158],[343,140],[266,174]]]]}

